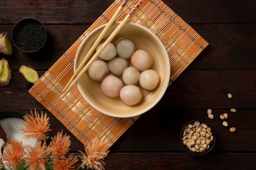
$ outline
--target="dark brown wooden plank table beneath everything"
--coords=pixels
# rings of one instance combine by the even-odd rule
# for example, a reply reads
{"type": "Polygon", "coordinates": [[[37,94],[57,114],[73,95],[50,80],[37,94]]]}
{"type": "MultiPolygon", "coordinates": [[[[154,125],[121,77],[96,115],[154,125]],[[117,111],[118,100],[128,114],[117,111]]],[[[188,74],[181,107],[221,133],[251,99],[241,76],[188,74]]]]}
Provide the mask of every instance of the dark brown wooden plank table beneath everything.
{"type": "MultiPolygon", "coordinates": [[[[161,101],[143,114],[110,148],[106,170],[256,169],[256,1],[163,0],[195,29],[209,46],[168,87],[161,101]],[[229,99],[227,93],[233,97],[229,99]],[[207,117],[211,108],[214,118],[207,117]],[[236,108],[231,113],[230,108],[236,108]],[[220,113],[228,113],[229,128],[220,113]],[[159,121],[159,117],[166,117],[159,121]],[[216,145],[204,156],[186,153],[180,132],[186,122],[202,119],[216,131],[216,145]]],[[[0,109],[24,113],[36,108],[50,117],[51,136],[71,136],[71,151],[83,144],[38,103],[32,84],[19,73],[31,66],[42,76],[113,0],[1,0],[0,33],[9,33],[23,18],[45,24],[48,41],[43,53],[24,53],[13,46],[6,56],[12,69],[8,86],[0,87],[0,109]]],[[[78,165],[79,163],[77,163],[78,165]]]]}

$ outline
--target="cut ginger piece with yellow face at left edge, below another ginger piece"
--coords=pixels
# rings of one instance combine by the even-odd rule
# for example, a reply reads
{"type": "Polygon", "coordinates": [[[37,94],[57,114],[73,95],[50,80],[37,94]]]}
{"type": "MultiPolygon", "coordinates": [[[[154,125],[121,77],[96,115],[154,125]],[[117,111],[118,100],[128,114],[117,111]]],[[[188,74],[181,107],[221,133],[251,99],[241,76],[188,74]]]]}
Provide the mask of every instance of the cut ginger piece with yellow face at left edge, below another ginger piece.
{"type": "Polygon", "coordinates": [[[3,63],[2,71],[0,73],[0,85],[7,86],[11,79],[11,68],[8,64],[8,61],[4,58],[0,61],[0,63],[3,63]]]}

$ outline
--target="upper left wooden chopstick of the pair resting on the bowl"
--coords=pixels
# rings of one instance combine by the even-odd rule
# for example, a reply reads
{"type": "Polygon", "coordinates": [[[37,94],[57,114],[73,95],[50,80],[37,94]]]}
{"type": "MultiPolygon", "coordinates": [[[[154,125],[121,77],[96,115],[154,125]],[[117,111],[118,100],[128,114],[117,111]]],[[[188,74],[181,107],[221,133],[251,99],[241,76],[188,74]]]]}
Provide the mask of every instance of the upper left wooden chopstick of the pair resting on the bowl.
{"type": "Polygon", "coordinates": [[[67,90],[67,88],[70,86],[70,84],[72,83],[72,81],[75,79],[76,75],[78,75],[78,73],[81,71],[81,69],[83,68],[85,62],[88,60],[88,58],[92,55],[93,51],[96,49],[96,47],[99,45],[99,43],[101,42],[103,36],[106,34],[106,32],[108,31],[108,29],[110,28],[110,26],[115,22],[115,20],[117,19],[118,15],[121,13],[122,9],[124,8],[124,6],[126,5],[128,0],[124,0],[121,5],[118,7],[117,11],[115,11],[114,15],[110,18],[108,24],[105,26],[105,28],[103,29],[103,31],[100,33],[99,37],[97,38],[97,40],[94,42],[94,44],[92,45],[92,47],[90,48],[90,50],[88,51],[88,53],[85,55],[85,57],[83,58],[83,61],[80,63],[80,65],[78,66],[78,68],[76,69],[76,71],[74,72],[74,74],[72,75],[71,79],[67,82],[67,85],[65,86],[65,88],[63,89],[63,92],[65,92],[67,90]]]}

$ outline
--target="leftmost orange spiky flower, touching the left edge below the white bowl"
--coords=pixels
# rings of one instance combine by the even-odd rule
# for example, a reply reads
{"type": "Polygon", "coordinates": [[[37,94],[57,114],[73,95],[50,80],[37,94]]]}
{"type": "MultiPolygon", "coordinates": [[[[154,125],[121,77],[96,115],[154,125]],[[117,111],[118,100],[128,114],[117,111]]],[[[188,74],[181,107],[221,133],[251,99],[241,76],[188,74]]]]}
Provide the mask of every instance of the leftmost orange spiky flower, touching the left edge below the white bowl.
{"type": "Polygon", "coordinates": [[[4,162],[2,166],[11,166],[13,169],[17,169],[21,165],[22,157],[25,155],[24,147],[22,141],[10,140],[7,144],[3,146],[4,153],[0,155],[2,161],[4,162]]]}

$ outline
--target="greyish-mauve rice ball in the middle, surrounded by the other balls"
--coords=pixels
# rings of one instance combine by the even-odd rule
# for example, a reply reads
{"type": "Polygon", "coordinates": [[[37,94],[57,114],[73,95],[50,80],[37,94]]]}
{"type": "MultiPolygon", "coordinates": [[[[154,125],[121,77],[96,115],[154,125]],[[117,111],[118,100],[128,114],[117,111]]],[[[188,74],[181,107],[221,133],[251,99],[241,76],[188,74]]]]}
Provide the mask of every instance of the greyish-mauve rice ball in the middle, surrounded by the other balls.
{"type": "Polygon", "coordinates": [[[120,76],[128,67],[128,61],[124,58],[115,57],[108,61],[108,69],[114,75],[120,76]]]}

